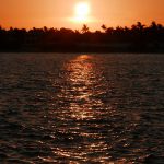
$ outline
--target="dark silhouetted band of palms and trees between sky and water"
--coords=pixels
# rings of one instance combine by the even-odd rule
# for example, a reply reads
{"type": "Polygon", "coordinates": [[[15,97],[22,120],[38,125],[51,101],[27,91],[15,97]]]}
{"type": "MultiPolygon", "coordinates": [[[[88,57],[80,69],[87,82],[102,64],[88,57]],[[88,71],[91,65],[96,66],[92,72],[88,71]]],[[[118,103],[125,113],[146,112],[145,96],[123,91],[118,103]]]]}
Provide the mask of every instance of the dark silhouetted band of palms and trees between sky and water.
{"type": "Polygon", "coordinates": [[[85,24],[81,31],[0,26],[0,51],[164,52],[164,26],[155,22],[116,28],[103,24],[102,31],[95,32],[85,24]]]}

